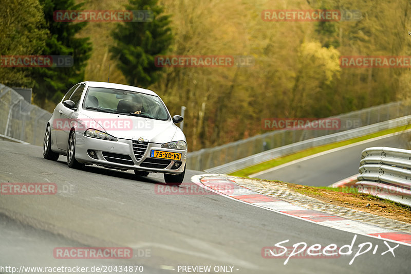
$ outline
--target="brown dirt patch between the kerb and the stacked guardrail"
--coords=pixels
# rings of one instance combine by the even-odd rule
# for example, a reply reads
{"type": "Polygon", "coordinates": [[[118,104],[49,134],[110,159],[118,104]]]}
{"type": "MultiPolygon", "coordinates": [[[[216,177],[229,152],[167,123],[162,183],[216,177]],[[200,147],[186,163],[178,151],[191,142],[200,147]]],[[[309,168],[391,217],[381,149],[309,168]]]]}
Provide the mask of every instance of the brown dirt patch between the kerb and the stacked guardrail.
{"type": "Polygon", "coordinates": [[[292,191],[322,200],[325,203],[411,224],[411,208],[375,196],[359,193],[355,188],[319,189],[309,186],[287,184],[292,191]]]}

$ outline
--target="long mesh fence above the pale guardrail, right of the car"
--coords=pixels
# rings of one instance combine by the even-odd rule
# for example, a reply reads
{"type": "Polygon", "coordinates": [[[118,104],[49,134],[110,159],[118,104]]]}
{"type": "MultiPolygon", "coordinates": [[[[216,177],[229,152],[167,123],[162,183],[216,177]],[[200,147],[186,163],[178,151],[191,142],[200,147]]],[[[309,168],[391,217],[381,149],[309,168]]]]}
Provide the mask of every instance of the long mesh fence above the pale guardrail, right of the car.
{"type": "Polygon", "coordinates": [[[189,152],[187,168],[194,170],[213,170],[214,167],[269,151],[275,148],[309,140],[321,136],[339,133],[361,127],[392,120],[411,114],[411,106],[402,102],[393,102],[361,109],[329,118],[338,118],[342,121],[339,130],[276,130],[256,135],[214,148],[201,149],[189,152]],[[358,124],[353,126],[353,122],[358,124]],[[351,126],[349,125],[351,123],[351,126]]]}

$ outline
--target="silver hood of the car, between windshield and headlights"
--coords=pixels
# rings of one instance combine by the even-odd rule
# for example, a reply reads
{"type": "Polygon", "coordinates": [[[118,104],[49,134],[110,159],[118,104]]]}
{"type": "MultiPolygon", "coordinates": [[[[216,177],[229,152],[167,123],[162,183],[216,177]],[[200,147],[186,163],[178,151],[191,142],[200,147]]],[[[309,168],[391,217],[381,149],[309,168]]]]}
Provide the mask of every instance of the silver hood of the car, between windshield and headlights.
{"type": "MultiPolygon", "coordinates": [[[[146,141],[166,143],[173,141],[177,131],[177,126],[172,121],[94,111],[84,111],[82,114],[98,123],[97,130],[104,130],[120,139],[132,140],[142,137],[146,141]]],[[[92,127],[90,123],[89,127],[92,127]]]]}

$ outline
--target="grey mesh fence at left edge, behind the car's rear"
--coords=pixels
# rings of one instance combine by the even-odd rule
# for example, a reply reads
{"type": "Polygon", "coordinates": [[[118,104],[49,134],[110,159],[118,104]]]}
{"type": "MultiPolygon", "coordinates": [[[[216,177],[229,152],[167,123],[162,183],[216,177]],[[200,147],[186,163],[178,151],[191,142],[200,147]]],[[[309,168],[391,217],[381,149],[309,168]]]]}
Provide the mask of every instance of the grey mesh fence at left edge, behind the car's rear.
{"type": "Polygon", "coordinates": [[[0,134],[42,145],[51,113],[32,105],[14,89],[0,84],[0,134]]]}

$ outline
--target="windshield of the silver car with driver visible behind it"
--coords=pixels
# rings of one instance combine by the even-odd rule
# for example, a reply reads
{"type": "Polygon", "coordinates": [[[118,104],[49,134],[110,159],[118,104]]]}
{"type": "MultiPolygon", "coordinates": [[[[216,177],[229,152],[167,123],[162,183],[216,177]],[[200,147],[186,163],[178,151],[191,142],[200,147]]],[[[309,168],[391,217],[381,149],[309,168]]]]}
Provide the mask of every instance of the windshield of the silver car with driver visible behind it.
{"type": "Polygon", "coordinates": [[[158,96],[122,89],[89,87],[83,108],[157,120],[169,119],[169,114],[158,96]]]}

